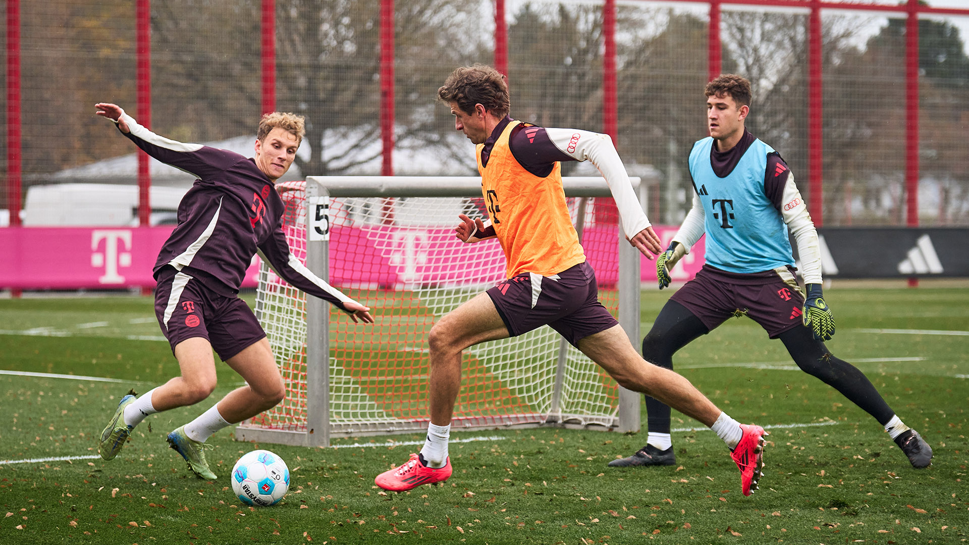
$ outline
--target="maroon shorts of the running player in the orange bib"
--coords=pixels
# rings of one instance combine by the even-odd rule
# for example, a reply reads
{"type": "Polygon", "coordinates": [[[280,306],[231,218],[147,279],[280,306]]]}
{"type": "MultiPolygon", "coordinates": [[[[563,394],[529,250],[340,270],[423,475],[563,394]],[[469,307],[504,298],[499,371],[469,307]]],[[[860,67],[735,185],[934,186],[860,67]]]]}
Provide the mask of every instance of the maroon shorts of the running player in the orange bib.
{"type": "Polygon", "coordinates": [[[486,293],[512,337],[547,325],[577,346],[619,323],[599,303],[596,273],[587,263],[552,276],[522,272],[486,293]]]}

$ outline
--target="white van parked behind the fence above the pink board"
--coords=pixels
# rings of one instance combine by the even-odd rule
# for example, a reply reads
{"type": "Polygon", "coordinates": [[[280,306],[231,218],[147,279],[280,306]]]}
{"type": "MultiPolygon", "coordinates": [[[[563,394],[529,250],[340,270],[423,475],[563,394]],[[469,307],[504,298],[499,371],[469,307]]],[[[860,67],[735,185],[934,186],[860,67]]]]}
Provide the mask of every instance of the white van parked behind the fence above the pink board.
{"type": "MultiPolygon", "coordinates": [[[[188,187],[151,186],[150,225],[174,225],[178,203],[188,187]]],[[[138,226],[138,186],[111,183],[58,183],[27,189],[23,225],[138,226]]]]}

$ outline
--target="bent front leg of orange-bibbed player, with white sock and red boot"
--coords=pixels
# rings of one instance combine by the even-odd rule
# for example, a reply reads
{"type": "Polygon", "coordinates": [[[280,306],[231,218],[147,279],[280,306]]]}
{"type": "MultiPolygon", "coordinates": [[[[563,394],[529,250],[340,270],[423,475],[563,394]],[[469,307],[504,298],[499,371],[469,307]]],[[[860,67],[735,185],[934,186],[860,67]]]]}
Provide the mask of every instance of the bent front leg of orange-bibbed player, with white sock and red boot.
{"type": "Polygon", "coordinates": [[[458,306],[434,324],[428,337],[430,425],[427,427],[427,439],[420,455],[412,454],[405,464],[377,475],[374,479],[377,486],[402,492],[451,477],[448,438],[454,402],[461,387],[461,352],[485,340],[508,335],[505,323],[485,293],[458,306]]]}

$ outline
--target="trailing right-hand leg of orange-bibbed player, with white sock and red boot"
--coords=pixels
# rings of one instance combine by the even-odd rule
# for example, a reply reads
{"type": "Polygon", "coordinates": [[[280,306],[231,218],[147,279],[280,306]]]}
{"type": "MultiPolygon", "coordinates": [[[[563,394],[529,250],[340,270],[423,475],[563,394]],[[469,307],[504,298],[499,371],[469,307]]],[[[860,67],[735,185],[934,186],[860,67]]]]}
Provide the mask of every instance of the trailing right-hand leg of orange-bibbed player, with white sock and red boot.
{"type": "Polygon", "coordinates": [[[743,495],[750,496],[757,490],[764,468],[766,432],[763,428],[739,424],[685,377],[643,360],[621,326],[580,339],[578,349],[606,369],[624,388],[663,401],[709,426],[731,448],[731,456],[740,468],[743,495]]]}

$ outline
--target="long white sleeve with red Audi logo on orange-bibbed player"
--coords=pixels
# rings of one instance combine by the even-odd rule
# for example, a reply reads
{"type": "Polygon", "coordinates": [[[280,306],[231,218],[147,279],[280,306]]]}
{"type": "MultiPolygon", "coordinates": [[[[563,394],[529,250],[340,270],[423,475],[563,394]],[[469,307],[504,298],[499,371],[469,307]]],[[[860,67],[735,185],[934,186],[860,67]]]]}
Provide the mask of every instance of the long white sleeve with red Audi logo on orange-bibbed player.
{"type": "Polygon", "coordinates": [[[636,236],[651,225],[609,135],[575,129],[546,129],[546,134],[552,144],[566,155],[578,161],[588,160],[599,169],[619,209],[622,230],[627,238],[636,236]]]}

